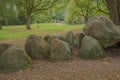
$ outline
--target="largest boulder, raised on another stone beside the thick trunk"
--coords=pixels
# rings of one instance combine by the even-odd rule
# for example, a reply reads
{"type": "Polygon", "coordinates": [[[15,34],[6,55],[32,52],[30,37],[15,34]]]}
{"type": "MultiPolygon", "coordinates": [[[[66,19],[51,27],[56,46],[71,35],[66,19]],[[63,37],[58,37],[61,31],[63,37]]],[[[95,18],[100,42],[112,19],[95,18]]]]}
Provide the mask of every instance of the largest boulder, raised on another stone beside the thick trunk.
{"type": "Polygon", "coordinates": [[[120,41],[120,29],[105,17],[94,16],[88,20],[84,29],[86,35],[96,38],[104,48],[120,41]]]}

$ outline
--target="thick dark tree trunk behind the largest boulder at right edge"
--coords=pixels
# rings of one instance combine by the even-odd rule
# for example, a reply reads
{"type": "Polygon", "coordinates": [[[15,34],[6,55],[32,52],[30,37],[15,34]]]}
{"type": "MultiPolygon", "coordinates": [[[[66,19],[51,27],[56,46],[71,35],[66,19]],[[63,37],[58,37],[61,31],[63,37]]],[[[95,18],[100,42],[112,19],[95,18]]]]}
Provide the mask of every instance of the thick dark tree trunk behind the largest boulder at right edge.
{"type": "Polygon", "coordinates": [[[106,0],[110,19],[117,26],[120,25],[120,0],[106,0]]]}

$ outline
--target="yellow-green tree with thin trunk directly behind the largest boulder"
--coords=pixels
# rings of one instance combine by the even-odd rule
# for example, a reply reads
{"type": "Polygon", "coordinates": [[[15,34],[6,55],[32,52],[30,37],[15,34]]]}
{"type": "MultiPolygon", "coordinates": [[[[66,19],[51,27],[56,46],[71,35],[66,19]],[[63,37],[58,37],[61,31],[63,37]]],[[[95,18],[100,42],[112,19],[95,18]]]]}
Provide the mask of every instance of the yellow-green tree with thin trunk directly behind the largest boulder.
{"type": "Polygon", "coordinates": [[[80,15],[84,17],[85,22],[89,17],[95,15],[98,12],[97,6],[94,0],[74,0],[76,5],[80,9],[80,15]]]}

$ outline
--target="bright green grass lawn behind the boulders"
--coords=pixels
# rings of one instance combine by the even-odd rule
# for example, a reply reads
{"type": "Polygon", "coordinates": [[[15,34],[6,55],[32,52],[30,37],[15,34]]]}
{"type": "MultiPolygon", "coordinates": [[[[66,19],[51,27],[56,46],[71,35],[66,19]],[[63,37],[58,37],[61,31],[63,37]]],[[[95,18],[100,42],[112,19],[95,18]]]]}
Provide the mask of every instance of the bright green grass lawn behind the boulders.
{"type": "Polygon", "coordinates": [[[70,30],[81,30],[83,26],[84,25],[42,23],[32,24],[32,30],[27,30],[25,25],[3,26],[3,30],[0,30],[0,40],[25,37],[30,34],[38,34],[41,36],[44,36],[46,34],[60,34],[62,32],[70,30]]]}

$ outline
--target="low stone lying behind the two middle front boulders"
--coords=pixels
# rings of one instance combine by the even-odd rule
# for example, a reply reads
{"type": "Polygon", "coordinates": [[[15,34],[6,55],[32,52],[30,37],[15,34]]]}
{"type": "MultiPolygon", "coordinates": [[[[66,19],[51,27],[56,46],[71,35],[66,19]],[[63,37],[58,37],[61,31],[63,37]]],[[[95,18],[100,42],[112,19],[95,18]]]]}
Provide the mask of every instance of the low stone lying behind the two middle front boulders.
{"type": "Polygon", "coordinates": [[[51,43],[51,41],[54,39],[54,38],[57,38],[57,39],[60,39],[60,40],[63,40],[65,41],[65,37],[63,35],[60,35],[60,34],[53,34],[53,35],[46,35],[44,36],[44,40],[48,43],[51,43]]]}

